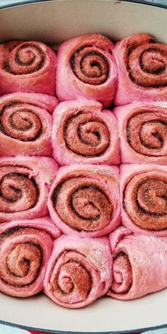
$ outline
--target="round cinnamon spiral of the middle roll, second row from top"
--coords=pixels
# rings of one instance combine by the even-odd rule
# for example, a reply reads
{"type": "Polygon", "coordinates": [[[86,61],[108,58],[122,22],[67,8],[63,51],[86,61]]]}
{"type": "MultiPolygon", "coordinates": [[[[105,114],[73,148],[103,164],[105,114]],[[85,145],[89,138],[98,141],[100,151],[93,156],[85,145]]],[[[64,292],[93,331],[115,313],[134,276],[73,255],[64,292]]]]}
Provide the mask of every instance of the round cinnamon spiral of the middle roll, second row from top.
{"type": "Polygon", "coordinates": [[[95,157],[103,154],[108,148],[110,134],[100,118],[91,113],[79,113],[67,120],[64,141],[74,153],[95,157]]]}

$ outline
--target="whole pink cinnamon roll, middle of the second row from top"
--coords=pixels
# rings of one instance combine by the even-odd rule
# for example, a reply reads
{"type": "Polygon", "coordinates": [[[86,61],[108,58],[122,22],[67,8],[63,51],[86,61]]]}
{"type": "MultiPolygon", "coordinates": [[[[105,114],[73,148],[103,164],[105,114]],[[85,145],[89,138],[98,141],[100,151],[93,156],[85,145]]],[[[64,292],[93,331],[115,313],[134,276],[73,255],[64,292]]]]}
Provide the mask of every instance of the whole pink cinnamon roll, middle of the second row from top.
{"type": "Polygon", "coordinates": [[[52,149],[59,165],[120,163],[115,116],[96,101],[59,103],[53,113],[52,149]]]}

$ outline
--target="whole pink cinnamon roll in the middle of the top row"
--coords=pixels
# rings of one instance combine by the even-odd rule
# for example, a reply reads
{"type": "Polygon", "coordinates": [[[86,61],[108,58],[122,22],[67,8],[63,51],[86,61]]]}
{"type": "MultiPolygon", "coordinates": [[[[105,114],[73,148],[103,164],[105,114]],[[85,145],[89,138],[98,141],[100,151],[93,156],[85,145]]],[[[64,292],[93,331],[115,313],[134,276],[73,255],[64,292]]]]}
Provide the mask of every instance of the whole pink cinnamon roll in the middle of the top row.
{"type": "Polygon", "coordinates": [[[60,101],[90,98],[105,107],[117,88],[113,42],[103,35],[67,40],[57,50],[56,93],[60,101]]]}

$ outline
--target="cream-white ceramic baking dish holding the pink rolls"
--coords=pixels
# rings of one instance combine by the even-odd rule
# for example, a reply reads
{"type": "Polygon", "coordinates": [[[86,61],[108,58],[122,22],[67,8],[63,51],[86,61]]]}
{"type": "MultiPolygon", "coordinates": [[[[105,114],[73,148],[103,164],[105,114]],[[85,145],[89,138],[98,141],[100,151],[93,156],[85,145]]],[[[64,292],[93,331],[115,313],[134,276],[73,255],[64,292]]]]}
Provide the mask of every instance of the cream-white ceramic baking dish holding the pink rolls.
{"type": "MultiPolygon", "coordinates": [[[[165,8],[112,0],[28,1],[8,8],[5,2],[0,10],[1,42],[21,39],[57,44],[85,33],[102,33],[115,41],[149,33],[167,43],[165,8]]],[[[44,294],[27,299],[0,294],[0,319],[56,333],[129,333],[154,326],[166,328],[167,333],[167,289],[134,301],[103,297],[78,310],[57,306],[44,294]]]]}

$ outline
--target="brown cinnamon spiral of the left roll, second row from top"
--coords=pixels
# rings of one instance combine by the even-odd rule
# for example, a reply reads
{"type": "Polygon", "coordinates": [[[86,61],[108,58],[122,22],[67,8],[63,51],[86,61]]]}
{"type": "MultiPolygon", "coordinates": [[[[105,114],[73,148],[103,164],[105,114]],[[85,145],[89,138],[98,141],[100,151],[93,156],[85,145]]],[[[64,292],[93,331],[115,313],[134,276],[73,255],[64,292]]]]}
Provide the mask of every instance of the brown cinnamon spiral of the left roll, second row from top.
{"type": "Polygon", "coordinates": [[[6,136],[21,142],[33,142],[42,134],[36,107],[20,101],[10,101],[1,108],[0,129],[6,136]]]}

